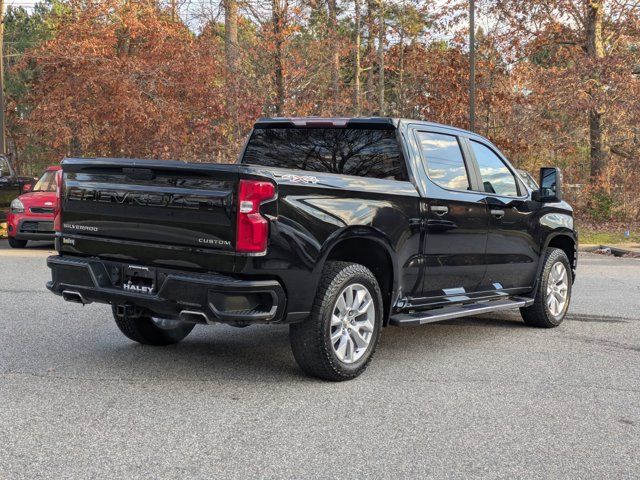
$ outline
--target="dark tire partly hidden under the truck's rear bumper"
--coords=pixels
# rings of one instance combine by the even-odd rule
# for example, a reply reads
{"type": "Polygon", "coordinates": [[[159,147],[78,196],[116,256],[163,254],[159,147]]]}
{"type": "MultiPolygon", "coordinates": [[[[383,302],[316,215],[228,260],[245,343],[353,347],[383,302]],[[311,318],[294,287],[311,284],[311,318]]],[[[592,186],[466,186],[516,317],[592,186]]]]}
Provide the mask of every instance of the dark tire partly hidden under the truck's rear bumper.
{"type": "Polygon", "coordinates": [[[195,326],[194,323],[179,322],[174,328],[161,328],[151,317],[119,316],[116,314],[115,307],[113,307],[113,318],[127,338],[143,345],[173,345],[189,335],[195,326]]]}

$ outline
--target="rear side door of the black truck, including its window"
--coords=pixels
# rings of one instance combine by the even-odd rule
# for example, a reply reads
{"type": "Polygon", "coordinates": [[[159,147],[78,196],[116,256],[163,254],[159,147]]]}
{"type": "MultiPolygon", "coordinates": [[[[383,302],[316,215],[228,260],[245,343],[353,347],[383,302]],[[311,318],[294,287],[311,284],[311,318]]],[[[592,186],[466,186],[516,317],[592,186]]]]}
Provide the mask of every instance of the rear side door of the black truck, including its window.
{"type": "Polygon", "coordinates": [[[422,199],[424,303],[460,298],[477,291],[485,274],[485,195],[473,191],[473,165],[455,131],[424,127],[414,134],[427,180],[422,199]]]}

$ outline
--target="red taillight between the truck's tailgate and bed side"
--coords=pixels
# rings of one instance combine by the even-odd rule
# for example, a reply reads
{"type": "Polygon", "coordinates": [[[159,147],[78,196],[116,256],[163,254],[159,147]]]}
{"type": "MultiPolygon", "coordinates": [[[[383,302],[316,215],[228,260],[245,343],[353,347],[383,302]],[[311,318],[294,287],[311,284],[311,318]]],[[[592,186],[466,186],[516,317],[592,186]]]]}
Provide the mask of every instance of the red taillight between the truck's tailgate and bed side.
{"type": "Polygon", "coordinates": [[[236,251],[264,252],[269,237],[269,222],[260,214],[260,204],[276,194],[270,182],[240,180],[238,188],[238,226],[236,251]]]}

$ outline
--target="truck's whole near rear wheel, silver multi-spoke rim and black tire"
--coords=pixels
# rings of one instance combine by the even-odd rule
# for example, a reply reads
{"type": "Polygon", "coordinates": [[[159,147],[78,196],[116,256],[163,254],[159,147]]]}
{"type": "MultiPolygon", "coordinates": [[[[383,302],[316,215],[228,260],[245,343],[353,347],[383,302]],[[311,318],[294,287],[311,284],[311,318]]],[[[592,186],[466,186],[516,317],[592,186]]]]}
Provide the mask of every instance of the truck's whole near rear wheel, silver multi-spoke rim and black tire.
{"type": "Polygon", "coordinates": [[[325,380],[349,380],[366,368],[382,328],[382,294],[366,267],[329,261],[311,316],[289,330],[300,368],[325,380]]]}

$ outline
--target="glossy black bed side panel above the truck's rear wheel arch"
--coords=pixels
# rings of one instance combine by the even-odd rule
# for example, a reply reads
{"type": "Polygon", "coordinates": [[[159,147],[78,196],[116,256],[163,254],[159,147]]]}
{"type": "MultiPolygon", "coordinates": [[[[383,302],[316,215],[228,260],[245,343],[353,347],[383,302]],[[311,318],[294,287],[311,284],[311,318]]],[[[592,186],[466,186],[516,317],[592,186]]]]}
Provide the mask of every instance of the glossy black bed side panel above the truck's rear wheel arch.
{"type": "Polygon", "coordinates": [[[394,283],[419,281],[419,195],[410,182],[306,171],[260,169],[278,184],[277,206],[265,205],[270,243],[264,256],[236,258],[239,274],[274,275],[287,291],[289,320],[306,315],[331,250],[367,238],[388,252],[394,283]],[[416,223],[416,220],[418,223],[416,223]]]}

